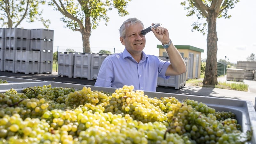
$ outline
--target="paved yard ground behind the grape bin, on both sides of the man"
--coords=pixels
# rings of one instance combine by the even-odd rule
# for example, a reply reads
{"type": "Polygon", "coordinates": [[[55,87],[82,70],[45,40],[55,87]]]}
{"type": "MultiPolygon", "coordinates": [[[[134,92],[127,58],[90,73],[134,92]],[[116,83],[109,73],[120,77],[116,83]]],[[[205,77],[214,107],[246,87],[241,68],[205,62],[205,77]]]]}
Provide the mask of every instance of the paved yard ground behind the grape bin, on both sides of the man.
{"type": "MultiPolygon", "coordinates": [[[[12,73],[12,72],[0,71],[0,76],[43,80],[43,81],[50,81],[50,82],[71,83],[71,84],[84,84],[84,85],[95,84],[95,80],[87,80],[86,78],[68,78],[66,76],[58,76],[57,72],[52,72],[51,74],[27,74],[26,75],[24,73],[12,73]]],[[[218,81],[222,81],[222,82],[226,81],[226,76],[219,77],[218,81]]],[[[230,81],[226,81],[226,82],[230,82],[230,81]]],[[[252,104],[255,106],[256,81],[244,80],[244,83],[249,85],[248,92],[227,90],[227,89],[220,89],[220,88],[189,86],[189,85],[185,85],[183,88],[179,90],[175,89],[174,87],[159,86],[156,88],[156,92],[219,97],[219,98],[237,99],[237,100],[248,100],[248,101],[252,101],[252,104]]]]}

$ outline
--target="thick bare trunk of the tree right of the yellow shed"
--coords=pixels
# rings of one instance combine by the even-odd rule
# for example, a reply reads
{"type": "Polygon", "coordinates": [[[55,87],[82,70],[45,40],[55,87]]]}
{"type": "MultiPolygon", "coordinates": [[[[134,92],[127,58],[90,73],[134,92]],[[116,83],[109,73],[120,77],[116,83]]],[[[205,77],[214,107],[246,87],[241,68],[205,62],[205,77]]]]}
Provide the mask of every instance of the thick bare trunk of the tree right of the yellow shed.
{"type": "Polygon", "coordinates": [[[205,85],[217,85],[217,31],[216,21],[217,16],[215,12],[209,12],[210,16],[208,21],[208,35],[207,35],[207,59],[205,66],[205,75],[203,86],[205,85]]]}

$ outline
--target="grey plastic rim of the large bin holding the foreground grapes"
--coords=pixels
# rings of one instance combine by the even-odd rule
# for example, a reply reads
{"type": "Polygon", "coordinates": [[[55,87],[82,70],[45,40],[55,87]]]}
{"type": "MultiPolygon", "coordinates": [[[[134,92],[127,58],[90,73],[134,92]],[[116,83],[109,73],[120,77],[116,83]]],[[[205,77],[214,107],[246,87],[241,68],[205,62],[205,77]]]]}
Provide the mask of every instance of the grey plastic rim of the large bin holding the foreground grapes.
{"type": "MultiPolygon", "coordinates": [[[[2,84],[0,87],[0,92],[6,92],[10,88],[15,89],[20,92],[22,89],[31,87],[31,86],[43,86],[51,84],[52,87],[73,87],[77,90],[81,90],[84,86],[91,87],[92,90],[104,91],[104,92],[115,92],[116,88],[107,88],[107,87],[97,87],[91,85],[82,85],[82,84],[68,84],[68,83],[58,83],[58,82],[28,82],[23,84],[2,84]]],[[[144,92],[148,97],[160,98],[160,97],[176,97],[178,100],[197,100],[198,102],[203,102],[211,108],[215,108],[216,111],[231,111],[236,114],[236,119],[238,124],[241,125],[242,131],[246,132],[247,130],[256,128],[256,112],[251,101],[245,100],[235,100],[235,99],[224,99],[224,98],[214,98],[207,96],[195,96],[195,95],[183,95],[183,94],[172,94],[172,93],[163,93],[163,92],[144,92]]],[[[256,132],[252,131],[252,139],[247,142],[248,144],[256,143],[256,132]]]]}

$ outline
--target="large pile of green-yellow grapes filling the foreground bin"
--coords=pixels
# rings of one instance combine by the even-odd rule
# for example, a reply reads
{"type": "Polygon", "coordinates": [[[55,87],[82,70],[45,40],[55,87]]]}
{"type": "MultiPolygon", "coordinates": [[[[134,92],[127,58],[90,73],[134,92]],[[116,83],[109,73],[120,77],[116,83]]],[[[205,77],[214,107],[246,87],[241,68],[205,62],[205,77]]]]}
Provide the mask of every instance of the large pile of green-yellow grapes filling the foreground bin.
{"type": "Polygon", "coordinates": [[[44,85],[0,94],[0,143],[242,144],[235,114],[194,100],[44,85]]]}

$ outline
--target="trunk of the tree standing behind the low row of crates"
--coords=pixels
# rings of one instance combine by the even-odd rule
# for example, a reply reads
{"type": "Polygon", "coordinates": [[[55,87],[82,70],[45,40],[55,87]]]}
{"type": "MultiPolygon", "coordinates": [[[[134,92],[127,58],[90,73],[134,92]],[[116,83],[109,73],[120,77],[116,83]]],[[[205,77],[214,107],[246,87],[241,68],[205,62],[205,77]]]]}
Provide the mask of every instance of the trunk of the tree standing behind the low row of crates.
{"type": "Polygon", "coordinates": [[[81,29],[82,34],[82,40],[83,40],[83,52],[90,53],[91,47],[90,47],[90,36],[91,36],[91,20],[90,17],[85,18],[85,27],[84,29],[81,29]]]}

